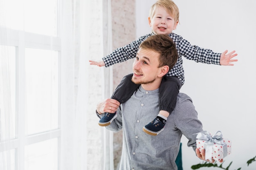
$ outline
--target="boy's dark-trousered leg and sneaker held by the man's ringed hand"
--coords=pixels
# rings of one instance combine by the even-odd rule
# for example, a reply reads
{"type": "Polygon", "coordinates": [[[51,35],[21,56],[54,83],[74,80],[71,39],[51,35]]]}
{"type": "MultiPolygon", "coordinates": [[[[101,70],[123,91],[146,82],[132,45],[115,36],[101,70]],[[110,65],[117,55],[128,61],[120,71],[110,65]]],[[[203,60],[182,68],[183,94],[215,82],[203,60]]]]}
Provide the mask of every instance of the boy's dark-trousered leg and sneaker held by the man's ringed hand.
{"type": "MultiPolygon", "coordinates": [[[[135,84],[132,82],[132,75],[133,73],[124,76],[111,96],[112,99],[116,99],[118,102],[120,102],[120,104],[126,102],[140,86],[140,84],[135,84]]],[[[108,126],[116,117],[116,112],[104,113],[98,124],[99,126],[108,126]]]]}

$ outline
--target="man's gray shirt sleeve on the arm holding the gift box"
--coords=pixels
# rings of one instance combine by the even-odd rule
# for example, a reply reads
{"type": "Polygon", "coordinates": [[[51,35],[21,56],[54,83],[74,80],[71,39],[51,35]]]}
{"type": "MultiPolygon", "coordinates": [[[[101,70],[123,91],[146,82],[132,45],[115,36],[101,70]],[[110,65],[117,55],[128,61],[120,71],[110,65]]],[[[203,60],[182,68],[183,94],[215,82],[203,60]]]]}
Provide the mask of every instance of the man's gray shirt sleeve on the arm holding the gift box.
{"type": "MultiPolygon", "coordinates": [[[[173,114],[173,113],[172,113],[173,114]]],[[[196,133],[201,132],[202,122],[192,103],[192,99],[185,97],[177,101],[175,108],[175,126],[189,140],[188,147],[196,148],[196,133]]]]}

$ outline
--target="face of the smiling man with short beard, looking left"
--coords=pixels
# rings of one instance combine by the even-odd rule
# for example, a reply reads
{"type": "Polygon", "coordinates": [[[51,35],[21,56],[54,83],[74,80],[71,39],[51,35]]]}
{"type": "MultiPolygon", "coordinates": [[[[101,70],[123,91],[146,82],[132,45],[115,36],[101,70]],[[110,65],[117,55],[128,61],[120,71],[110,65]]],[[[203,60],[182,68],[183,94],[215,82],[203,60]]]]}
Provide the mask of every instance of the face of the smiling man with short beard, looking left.
{"type": "Polygon", "coordinates": [[[159,78],[158,74],[161,70],[158,65],[159,53],[150,49],[140,48],[137,52],[136,60],[133,62],[132,82],[142,84],[144,89],[146,89],[146,86],[154,85],[155,80],[159,78]]]}

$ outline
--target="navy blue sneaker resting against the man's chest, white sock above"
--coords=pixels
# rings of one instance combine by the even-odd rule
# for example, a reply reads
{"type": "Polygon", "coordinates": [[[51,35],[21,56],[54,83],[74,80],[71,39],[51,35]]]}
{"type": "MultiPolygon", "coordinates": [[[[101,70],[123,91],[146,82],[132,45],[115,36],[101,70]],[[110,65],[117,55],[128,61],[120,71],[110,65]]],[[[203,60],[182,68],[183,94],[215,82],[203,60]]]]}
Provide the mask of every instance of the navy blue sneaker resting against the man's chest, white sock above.
{"type": "Polygon", "coordinates": [[[149,135],[158,135],[162,130],[164,130],[165,121],[162,122],[156,117],[153,121],[143,127],[143,131],[149,135]]]}

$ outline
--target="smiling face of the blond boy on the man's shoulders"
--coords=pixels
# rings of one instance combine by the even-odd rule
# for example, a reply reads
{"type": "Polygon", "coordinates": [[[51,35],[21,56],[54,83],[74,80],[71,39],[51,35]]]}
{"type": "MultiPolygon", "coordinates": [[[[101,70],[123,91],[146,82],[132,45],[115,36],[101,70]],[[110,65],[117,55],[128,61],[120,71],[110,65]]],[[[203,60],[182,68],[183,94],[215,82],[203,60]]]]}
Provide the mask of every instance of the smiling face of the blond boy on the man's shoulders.
{"type": "Polygon", "coordinates": [[[153,18],[148,17],[149,26],[151,26],[154,34],[168,35],[176,29],[178,21],[167,13],[163,7],[157,7],[153,18]]]}

